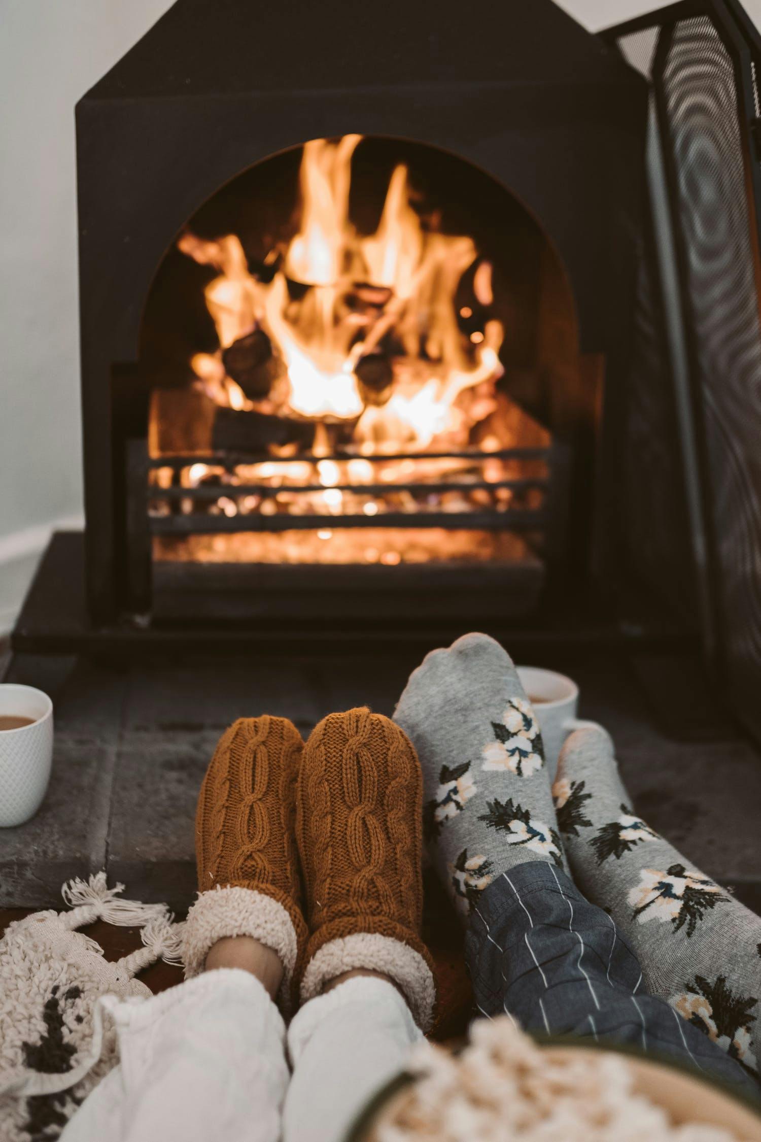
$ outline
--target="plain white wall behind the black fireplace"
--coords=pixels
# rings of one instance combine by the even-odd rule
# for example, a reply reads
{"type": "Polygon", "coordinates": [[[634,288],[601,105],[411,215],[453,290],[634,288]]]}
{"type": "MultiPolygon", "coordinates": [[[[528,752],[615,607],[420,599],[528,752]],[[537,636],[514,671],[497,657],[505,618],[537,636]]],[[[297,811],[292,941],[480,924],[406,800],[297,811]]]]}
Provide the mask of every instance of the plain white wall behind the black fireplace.
{"type": "MultiPolygon", "coordinates": [[[[51,528],[81,520],[74,104],[169,6],[0,0],[0,634],[51,528]]],[[[596,31],[659,5],[561,7],[596,31]]]]}

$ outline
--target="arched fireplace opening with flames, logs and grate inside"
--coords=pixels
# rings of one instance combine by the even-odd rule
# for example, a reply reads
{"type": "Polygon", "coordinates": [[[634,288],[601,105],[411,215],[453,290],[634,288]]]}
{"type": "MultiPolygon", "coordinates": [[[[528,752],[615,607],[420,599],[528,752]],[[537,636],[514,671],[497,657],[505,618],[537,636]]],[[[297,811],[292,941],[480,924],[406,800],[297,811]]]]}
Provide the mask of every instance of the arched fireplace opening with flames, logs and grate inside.
{"type": "Polygon", "coordinates": [[[589,363],[553,244],[472,163],[361,136],[258,162],[188,219],[145,303],[135,609],[257,613],[262,584],[268,608],[296,585],[440,606],[470,574],[473,601],[531,611],[573,562],[589,363]]]}

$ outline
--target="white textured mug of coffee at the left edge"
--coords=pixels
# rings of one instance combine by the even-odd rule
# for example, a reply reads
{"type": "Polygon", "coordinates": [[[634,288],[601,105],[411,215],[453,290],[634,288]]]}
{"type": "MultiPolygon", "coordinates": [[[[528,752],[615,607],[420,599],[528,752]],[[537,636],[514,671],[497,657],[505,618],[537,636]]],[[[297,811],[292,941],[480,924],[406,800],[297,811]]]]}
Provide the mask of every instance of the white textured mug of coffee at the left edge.
{"type": "Polygon", "coordinates": [[[52,763],[52,702],[34,686],[0,684],[0,715],[29,725],[0,730],[0,827],[23,825],[42,804],[52,763]]]}

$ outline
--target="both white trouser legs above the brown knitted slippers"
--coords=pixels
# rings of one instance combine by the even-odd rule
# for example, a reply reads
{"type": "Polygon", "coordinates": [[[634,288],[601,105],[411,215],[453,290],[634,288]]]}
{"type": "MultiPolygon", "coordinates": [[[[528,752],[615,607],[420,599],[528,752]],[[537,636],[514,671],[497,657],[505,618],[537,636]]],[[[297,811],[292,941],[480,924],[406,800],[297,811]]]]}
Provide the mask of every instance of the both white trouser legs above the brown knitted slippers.
{"type": "Polygon", "coordinates": [[[339,1142],[422,1038],[391,983],[348,980],[291,1023],[289,1086],[283,1020],[248,972],[207,972],[152,999],[100,1003],[121,1062],[60,1142],[339,1142]]]}

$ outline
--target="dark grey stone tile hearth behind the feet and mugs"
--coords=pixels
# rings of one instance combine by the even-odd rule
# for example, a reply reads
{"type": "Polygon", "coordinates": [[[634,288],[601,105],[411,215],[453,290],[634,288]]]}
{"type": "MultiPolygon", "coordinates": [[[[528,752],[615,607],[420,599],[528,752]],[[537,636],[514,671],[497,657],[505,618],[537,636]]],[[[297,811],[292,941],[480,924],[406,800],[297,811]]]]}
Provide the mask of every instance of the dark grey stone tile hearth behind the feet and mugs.
{"type": "MultiPolygon", "coordinates": [[[[184,657],[115,669],[17,654],[8,681],[56,706],[54,777],[40,813],[0,830],[0,906],[49,907],[60,884],[106,868],[130,895],[187,908],[195,891],[195,799],[234,718],[292,718],[308,734],[331,709],[391,714],[416,651],[331,657],[184,657]]],[[[575,677],[581,714],[613,734],[634,805],[698,867],[761,907],[761,759],[743,737],[674,741],[654,724],[624,660],[607,653],[537,665],[575,677]]]]}

